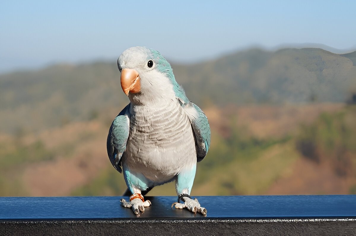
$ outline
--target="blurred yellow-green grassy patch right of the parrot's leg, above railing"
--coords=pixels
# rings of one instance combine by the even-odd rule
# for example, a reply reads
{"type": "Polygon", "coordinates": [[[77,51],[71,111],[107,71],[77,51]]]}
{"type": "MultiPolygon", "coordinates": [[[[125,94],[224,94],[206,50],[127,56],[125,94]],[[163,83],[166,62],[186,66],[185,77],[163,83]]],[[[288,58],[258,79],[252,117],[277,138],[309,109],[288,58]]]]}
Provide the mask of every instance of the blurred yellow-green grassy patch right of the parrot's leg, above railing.
{"type": "MultiPolygon", "coordinates": [[[[209,169],[209,175],[206,175],[200,187],[199,181],[195,182],[197,189],[193,189],[193,193],[197,195],[263,194],[274,181],[290,169],[299,157],[290,142],[275,144],[251,153],[242,159],[236,158],[225,165],[209,169]]],[[[204,172],[199,170],[199,173],[201,171],[204,172]]],[[[197,177],[199,178],[200,175],[197,177]]]]}

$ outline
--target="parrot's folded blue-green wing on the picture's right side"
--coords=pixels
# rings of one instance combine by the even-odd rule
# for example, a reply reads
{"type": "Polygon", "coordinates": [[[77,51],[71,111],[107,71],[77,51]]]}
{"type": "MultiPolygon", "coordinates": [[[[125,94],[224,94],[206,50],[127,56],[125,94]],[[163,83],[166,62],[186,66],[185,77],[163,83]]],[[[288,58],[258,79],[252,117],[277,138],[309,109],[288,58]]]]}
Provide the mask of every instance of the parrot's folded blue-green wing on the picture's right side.
{"type": "Polygon", "coordinates": [[[195,148],[197,149],[197,161],[201,161],[208,153],[210,146],[210,125],[208,118],[201,109],[192,102],[183,107],[187,112],[190,123],[192,124],[195,148]]]}

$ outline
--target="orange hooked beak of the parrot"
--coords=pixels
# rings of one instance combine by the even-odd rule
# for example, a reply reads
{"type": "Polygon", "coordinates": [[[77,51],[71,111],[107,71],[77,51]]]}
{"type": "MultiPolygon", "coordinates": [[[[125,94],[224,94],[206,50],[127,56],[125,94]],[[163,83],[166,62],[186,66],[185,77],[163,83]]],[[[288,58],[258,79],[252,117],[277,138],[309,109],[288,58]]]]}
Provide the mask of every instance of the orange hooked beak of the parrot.
{"type": "Polygon", "coordinates": [[[133,69],[121,71],[121,88],[129,96],[130,93],[138,93],[141,90],[141,81],[138,72],[133,69]]]}

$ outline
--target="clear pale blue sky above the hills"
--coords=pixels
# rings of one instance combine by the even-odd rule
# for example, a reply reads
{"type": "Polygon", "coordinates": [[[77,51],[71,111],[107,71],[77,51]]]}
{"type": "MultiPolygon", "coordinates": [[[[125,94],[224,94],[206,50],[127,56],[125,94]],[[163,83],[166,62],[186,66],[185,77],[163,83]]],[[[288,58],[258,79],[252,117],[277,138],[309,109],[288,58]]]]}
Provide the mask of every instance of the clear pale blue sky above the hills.
{"type": "Polygon", "coordinates": [[[259,46],[356,48],[356,1],[3,1],[0,73],[116,61],[154,48],[174,62],[259,46]]]}

